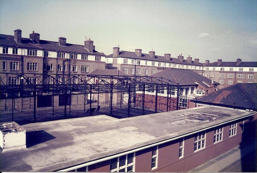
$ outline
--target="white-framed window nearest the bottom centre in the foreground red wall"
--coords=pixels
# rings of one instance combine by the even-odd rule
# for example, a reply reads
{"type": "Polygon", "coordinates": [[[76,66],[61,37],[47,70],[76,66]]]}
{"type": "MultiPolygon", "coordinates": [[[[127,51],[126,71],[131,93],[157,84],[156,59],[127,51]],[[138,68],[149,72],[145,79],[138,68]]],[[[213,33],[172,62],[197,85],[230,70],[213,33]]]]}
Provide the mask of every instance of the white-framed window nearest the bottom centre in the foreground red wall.
{"type": "Polygon", "coordinates": [[[110,160],[111,172],[133,172],[134,171],[135,153],[116,157],[110,160]]]}

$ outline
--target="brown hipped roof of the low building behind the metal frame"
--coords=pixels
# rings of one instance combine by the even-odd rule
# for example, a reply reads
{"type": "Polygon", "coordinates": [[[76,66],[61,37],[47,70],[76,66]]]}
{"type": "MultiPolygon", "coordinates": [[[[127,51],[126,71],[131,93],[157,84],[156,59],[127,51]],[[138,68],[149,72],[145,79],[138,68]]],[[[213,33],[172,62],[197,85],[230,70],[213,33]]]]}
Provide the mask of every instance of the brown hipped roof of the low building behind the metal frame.
{"type": "MultiPolygon", "coordinates": [[[[179,83],[179,85],[197,85],[199,83],[209,88],[210,86],[208,85],[211,84],[211,79],[187,69],[168,68],[151,76],[164,77],[179,83]]],[[[213,81],[213,83],[218,84],[218,82],[215,81],[213,81]]]]}

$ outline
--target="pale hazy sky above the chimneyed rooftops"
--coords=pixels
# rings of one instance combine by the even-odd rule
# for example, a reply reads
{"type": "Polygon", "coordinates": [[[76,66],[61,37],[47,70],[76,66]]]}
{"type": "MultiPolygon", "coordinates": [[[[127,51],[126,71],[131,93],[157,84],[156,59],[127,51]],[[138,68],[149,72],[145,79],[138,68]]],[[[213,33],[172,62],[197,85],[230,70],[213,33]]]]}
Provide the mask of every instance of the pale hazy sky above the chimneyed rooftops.
{"type": "Polygon", "coordinates": [[[106,55],[113,47],[200,62],[256,61],[256,0],[181,1],[3,1],[0,33],[32,30],[40,39],[84,45],[85,36],[106,55]]]}

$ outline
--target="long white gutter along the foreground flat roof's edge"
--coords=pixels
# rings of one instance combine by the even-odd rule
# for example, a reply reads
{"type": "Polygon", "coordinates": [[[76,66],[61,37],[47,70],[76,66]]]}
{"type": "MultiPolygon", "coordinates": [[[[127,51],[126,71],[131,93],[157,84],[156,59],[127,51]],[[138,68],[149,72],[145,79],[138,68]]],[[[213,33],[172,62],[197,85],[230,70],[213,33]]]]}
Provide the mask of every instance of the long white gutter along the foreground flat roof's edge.
{"type": "Polygon", "coordinates": [[[80,164],[80,165],[77,165],[77,166],[72,166],[72,167],[69,167],[69,168],[61,169],[61,170],[58,170],[58,172],[61,172],[61,171],[67,172],[67,171],[70,171],[70,170],[78,169],[78,168],[81,168],[81,167],[85,167],[85,166],[88,166],[88,165],[92,165],[92,164],[95,164],[95,163],[99,163],[99,162],[102,162],[102,161],[106,161],[106,160],[109,160],[109,159],[120,157],[120,156],[123,156],[123,155],[126,155],[126,154],[134,153],[134,152],[137,152],[137,151],[140,151],[140,150],[144,150],[146,148],[154,147],[154,146],[157,146],[157,145],[160,145],[160,144],[164,144],[164,143],[167,143],[167,142],[170,142],[170,141],[177,140],[179,138],[190,136],[190,135],[196,134],[198,132],[206,131],[207,129],[210,129],[210,128],[213,128],[213,127],[216,127],[216,126],[219,126],[219,125],[223,125],[223,124],[226,124],[226,123],[229,123],[229,122],[232,122],[232,121],[236,121],[238,119],[242,119],[242,118],[245,118],[245,117],[248,117],[248,116],[252,116],[254,114],[255,114],[255,112],[252,113],[252,114],[249,114],[249,115],[245,115],[245,116],[236,118],[236,119],[232,119],[232,120],[222,122],[222,123],[219,123],[219,124],[216,124],[216,125],[212,125],[212,126],[209,126],[209,127],[203,128],[203,129],[199,129],[198,131],[194,131],[194,132],[191,132],[191,133],[188,133],[188,134],[185,134],[185,135],[181,135],[181,136],[178,136],[178,137],[175,137],[175,138],[171,138],[171,139],[164,140],[164,141],[161,141],[161,142],[157,142],[157,143],[154,143],[154,144],[146,145],[146,146],[143,146],[143,147],[139,147],[139,148],[136,148],[136,149],[133,149],[133,150],[130,150],[130,151],[126,151],[126,152],[123,152],[123,153],[115,154],[115,155],[112,155],[112,156],[107,156],[107,157],[104,157],[104,158],[101,158],[101,159],[89,161],[87,163],[83,163],[83,164],[80,164]]]}

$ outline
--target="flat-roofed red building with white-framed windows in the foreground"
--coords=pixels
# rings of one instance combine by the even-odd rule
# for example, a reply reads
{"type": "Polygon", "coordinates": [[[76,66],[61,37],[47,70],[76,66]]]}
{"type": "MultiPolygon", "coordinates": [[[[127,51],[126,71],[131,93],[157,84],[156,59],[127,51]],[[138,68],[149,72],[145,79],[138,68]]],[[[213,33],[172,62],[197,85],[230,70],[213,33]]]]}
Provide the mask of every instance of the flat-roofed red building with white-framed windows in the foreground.
{"type": "MultiPolygon", "coordinates": [[[[11,128],[0,126],[1,133],[11,128]]],[[[254,111],[217,107],[30,123],[12,127],[16,134],[25,130],[26,139],[18,144],[6,138],[13,151],[0,153],[0,170],[190,171],[250,137],[256,140],[255,127],[254,111]]]]}

